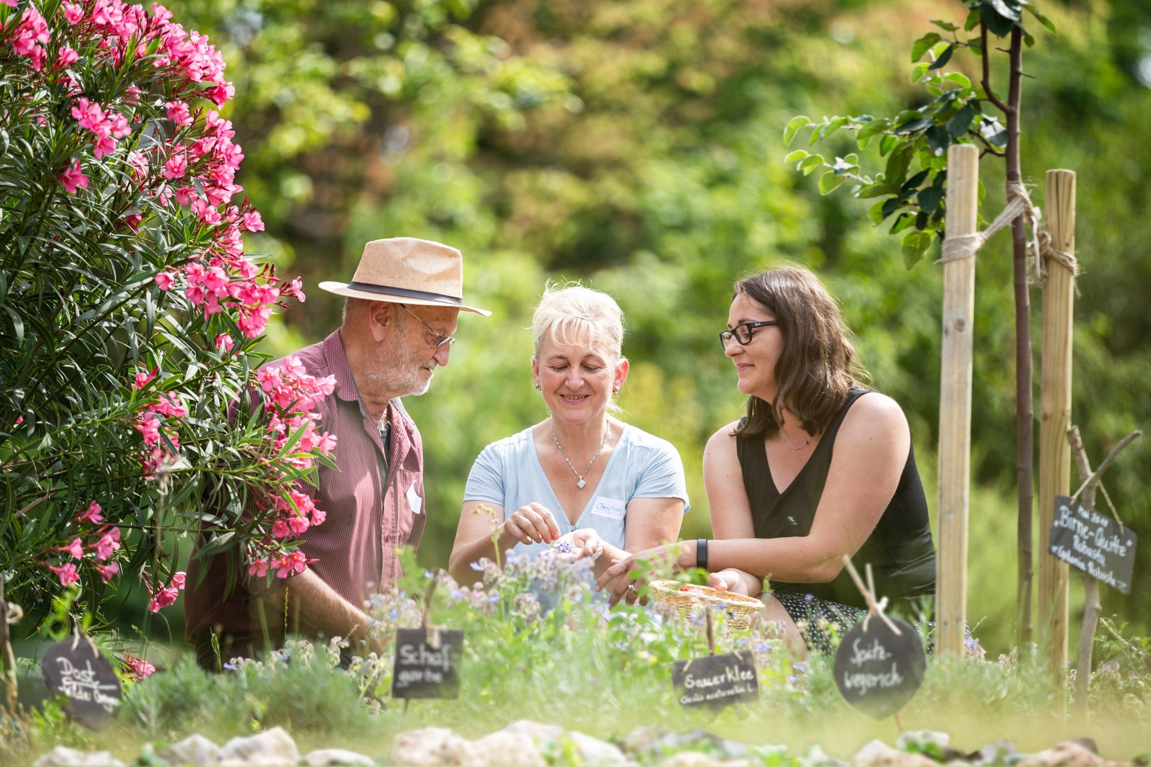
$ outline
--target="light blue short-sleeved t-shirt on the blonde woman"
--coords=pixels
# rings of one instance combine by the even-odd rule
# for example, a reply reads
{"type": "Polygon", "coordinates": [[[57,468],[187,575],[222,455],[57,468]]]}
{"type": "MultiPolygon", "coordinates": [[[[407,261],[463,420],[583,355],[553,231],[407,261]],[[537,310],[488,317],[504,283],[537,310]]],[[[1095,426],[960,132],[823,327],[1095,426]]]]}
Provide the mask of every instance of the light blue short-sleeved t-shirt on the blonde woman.
{"type": "MultiPolygon", "coordinates": [[[[576,483],[574,474],[571,481],[576,483]]],[[[567,521],[567,514],[543,473],[532,428],[485,447],[472,465],[464,488],[464,500],[503,506],[504,520],[534,501],[552,513],[561,535],[592,528],[604,543],[619,549],[624,549],[627,504],[633,498],[679,498],[684,501],[685,513],[691,508],[684,462],[679,460],[676,448],[666,439],[627,424],[624,424],[623,434],[608,457],[600,484],[576,524],[567,521]]],[[[534,557],[548,545],[520,543],[516,544],[514,551],[534,557]]]]}

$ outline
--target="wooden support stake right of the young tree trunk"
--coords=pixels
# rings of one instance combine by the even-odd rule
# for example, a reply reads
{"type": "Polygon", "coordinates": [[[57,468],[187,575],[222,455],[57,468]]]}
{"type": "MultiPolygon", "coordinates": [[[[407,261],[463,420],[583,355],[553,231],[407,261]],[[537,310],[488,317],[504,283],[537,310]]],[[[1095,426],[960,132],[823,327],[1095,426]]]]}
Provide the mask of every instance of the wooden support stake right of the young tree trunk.
{"type": "MultiPolygon", "coordinates": [[[[1049,170],[1044,206],[1051,247],[1075,252],[1075,174],[1049,170]]],[[[1039,393],[1039,561],[1036,601],[1038,639],[1047,665],[1062,684],[1067,673],[1067,562],[1047,552],[1055,496],[1070,493],[1072,455],[1067,429],[1072,421],[1072,314],[1075,275],[1062,263],[1047,261],[1043,289],[1043,369],[1039,393]]],[[[1059,697],[1062,700],[1062,697],[1059,697]]]]}

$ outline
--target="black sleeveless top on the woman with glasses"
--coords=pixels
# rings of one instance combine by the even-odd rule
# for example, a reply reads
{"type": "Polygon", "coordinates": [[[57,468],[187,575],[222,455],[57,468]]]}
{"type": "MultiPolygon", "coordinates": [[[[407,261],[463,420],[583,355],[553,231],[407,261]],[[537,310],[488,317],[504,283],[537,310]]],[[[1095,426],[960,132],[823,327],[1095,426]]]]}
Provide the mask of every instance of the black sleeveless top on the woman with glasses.
{"type": "MultiPolygon", "coordinates": [[[[763,437],[744,439],[737,437],[735,453],[744,471],[744,486],[752,504],[752,521],[757,538],[785,538],[806,536],[811,530],[815,509],[823,496],[831,466],[831,453],[836,434],[847,409],[856,399],[866,394],[863,389],[853,389],[843,409],[831,420],[820,444],[800,469],[787,489],[780,493],[768,468],[768,454],[763,437]]],[[[907,453],[907,463],[899,477],[899,486],[875,530],[852,557],[852,563],[860,575],[870,562],[875,575],[875,588],[879,597],[909,599],[935,595],[936,557],[931,542],[931,526],[928,521],[928,501],[923,483],[915,468],[915,447],[907,453]]],[[[777,583],[771,582],[778,593],[811,595],[818,599],[838,601],[853,607],[867,607],[851,575],[844,569],[830,583],[777,583]]]]}

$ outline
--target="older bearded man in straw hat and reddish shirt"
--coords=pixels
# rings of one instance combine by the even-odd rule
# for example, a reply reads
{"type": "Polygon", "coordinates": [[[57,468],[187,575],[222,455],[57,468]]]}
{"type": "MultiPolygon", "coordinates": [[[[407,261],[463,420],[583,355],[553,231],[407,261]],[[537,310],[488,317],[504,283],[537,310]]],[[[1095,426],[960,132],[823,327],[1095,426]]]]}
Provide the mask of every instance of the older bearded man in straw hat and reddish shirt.
{"type": "Polygon", "coordinates": [[[317,561],[264,590],[229,583],[223,557],[193,558],[184,618],[205,668],[250,655],[287,628],[367,636],[364,599],[399,575],[396,550],[419,546],[427,513],[420,432],[401,398],[426,392],[448,365],[459,312],[490,314],[464,304],[459,251],[411,237],[368,243],[351,282],[320,287],[345,300],[343,324],[296,352],[310,375],[336,381],[320,412],[340,471],[321,467],[319,485],[302,488],[327,514],[303,535],[300,550],[317,561]]]}

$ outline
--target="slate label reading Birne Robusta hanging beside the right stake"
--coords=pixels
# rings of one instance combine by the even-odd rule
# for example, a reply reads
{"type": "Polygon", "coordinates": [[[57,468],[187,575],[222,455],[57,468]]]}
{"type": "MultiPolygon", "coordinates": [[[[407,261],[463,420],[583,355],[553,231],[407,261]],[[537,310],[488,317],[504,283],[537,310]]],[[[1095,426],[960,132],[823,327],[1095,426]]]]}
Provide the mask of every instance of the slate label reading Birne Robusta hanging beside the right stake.
{"type": "Polygon", "coordinates": [[[1131,592],[1138,537],[1127,526],[1067,496],[1055,496],[1047,551],[1092,578],[1123,593],[1131,592]]]}

